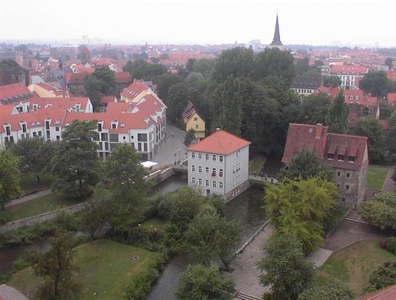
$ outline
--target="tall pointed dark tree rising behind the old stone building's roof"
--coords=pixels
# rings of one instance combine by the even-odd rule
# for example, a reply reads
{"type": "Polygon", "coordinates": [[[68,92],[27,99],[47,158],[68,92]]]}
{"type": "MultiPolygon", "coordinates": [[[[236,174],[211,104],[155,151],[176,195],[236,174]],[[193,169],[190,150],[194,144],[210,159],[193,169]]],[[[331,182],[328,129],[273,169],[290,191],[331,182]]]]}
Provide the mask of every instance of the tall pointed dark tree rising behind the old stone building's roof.
{"type": "Polygon", "coordinates": [[[340,92],[330,104],[326,115],[326,123],[329,126],[329,131],[346,134],[348,131],[348,115],[349,106],[345,103],[343,90],[340,89],[340,92]]]}

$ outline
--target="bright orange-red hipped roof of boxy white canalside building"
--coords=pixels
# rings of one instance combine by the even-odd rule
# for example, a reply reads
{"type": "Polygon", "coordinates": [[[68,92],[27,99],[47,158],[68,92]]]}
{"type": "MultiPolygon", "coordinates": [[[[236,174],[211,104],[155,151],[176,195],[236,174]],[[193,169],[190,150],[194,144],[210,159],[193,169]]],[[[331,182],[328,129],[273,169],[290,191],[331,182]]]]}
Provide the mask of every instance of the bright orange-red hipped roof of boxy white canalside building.
{"type": "Polygon", "coordinates": [[[217,130],[187,150],[227,155],[250,144],[251,142],[227,131],[217,130]]]}

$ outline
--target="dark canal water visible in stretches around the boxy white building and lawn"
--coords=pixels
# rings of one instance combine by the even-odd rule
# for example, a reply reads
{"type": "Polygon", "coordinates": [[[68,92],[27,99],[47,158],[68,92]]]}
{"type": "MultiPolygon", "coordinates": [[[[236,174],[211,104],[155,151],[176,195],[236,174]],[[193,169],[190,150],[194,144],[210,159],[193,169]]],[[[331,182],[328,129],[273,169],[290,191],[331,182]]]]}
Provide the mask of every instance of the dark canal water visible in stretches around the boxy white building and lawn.
{"type": "MultiPolygon", "coordinates": [[[[153,196],[157,192],[165,194],[187,185],[187,173],[180,172],[151,188],[149,196],[153,196]]],[[[266,220],[264,210],[261,208],[263,205],[263,196],[263,187],[252,185],[247,191],[226,205],[224,211],[225,218],[228,220],[239,219],[242,223],[241,246],[266,220]]],[[[47,251],[49,249],[49,240],[39,240],[31,245],[19,245],[0,249],[0,275],[7,272],[11,268],[12,262],[21,257],[25,250],[28,249],[47,251]]],[[[185,270],[187,263],[187,257],[184,256],[171,259],[146,299],[175,299],[174,292],[178,286],[178,275],[185,270]]]]}

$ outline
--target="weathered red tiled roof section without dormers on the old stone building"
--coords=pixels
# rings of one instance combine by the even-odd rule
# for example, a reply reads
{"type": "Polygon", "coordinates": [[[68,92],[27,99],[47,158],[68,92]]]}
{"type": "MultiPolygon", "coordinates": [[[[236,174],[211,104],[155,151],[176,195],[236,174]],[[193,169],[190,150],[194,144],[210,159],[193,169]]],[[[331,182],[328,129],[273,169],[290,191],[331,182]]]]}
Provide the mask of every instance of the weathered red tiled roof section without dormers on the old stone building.
{"type": "Polygon", "coordinates": [[[328,131],[329,127],[322,126],[321,124],[307,125],[290,123],[282,162],[289,163],[293,156],[305,147],[314,151],[317,156],[323,157],[328,131]]]}

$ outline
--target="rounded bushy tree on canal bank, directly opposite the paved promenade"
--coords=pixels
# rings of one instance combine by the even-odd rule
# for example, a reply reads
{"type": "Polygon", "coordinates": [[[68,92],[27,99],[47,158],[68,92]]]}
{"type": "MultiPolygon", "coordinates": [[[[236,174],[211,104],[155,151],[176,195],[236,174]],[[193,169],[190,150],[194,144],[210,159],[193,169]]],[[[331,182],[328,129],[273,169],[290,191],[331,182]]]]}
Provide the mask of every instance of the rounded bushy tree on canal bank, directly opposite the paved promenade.
{"type": "Polygon", "coordinates": [[[208,266],[217,261],[228,269],[241,242],[240,232],[237,220],[227,221],[214,210],[202,210],[184,234],[185,250],[199,263],[208,266]]]}

